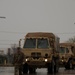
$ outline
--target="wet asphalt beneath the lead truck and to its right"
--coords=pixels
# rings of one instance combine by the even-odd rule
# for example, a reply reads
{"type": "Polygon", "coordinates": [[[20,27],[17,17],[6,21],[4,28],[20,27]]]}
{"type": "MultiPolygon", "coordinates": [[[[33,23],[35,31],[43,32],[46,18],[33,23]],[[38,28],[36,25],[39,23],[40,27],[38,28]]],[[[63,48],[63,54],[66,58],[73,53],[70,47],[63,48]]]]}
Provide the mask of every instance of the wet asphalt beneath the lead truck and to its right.
{"type": "MultiPolygon", "coordinates": [[[[27,74],[27,75],[31,75],[31,74],[27,74]]],[[[65,70],[65,68],[60,68],[58,73],[48,74],[47,69],[37,69],[36,74],[33,75],[75,75],[75,70],[65,70]]]]}

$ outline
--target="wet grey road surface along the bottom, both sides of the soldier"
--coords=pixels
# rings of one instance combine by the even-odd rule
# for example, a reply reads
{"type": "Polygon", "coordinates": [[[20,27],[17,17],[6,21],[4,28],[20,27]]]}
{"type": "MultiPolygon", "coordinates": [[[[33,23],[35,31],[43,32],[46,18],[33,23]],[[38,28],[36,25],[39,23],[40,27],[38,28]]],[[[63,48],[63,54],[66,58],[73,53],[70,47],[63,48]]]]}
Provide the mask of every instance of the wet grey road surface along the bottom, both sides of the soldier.
{"type": "MultiPolygon", "coordinates": [[[[14,75],[14,67],[0,67],[0,75],[14,75]]],[[[60,68],[57,74],[48,74],[47,69],[37,69],[35,74],[25,75],[75,75],[75,70],[60,68]]]]}

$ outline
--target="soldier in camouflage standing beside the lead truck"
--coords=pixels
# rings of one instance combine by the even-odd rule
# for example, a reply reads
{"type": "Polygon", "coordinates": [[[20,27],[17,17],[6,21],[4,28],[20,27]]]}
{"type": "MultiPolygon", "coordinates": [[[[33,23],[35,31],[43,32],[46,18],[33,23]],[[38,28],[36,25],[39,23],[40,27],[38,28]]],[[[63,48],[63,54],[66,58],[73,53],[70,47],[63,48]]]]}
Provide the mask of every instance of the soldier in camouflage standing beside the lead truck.
{"type": "Polygon", "coordinates": [[[22,75],[22,64],[24,60],[24,54],[21,52],[21,48],[17,48],[17,52],[14,54],[13,64],[15,65],[15,71],[19,70],[19,75],[22,75]]]}

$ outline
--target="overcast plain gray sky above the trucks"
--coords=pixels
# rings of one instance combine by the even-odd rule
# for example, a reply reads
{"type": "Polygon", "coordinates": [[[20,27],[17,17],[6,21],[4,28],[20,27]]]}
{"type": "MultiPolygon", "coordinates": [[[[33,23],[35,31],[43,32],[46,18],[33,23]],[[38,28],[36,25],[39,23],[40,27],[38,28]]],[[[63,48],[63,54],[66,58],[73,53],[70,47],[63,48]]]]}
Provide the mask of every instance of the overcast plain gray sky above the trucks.
{"type": "Polygon", "coordinates": [[[75,36],[75,0],[0,0],[0,48],[27,32],[53,32],[64,42],[75,36]]]}

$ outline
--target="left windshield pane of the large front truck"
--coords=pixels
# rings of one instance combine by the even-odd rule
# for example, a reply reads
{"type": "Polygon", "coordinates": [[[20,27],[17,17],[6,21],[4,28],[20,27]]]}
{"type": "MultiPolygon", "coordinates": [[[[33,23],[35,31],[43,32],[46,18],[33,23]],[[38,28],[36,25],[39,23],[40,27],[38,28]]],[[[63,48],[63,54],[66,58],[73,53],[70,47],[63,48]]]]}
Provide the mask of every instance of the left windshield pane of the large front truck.
{"type": "Polygon", "coordinates": [[[24,48],[36,48],[36,39],[27,38],[24,44],[24,48]]]}

